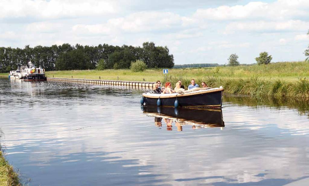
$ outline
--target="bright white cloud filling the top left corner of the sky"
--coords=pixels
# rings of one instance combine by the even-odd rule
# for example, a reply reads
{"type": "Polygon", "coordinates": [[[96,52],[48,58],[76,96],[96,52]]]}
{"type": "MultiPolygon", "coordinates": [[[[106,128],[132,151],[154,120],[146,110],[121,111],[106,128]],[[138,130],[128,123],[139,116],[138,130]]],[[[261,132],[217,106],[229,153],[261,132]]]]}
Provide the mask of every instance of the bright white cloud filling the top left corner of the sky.
{"type": "Polygon", "coordinates": [[[69,0],[2,0],[0,18],[37,19],[74,18],[115,13],[116,7],[106,1],[69,1],[69,0]]]}

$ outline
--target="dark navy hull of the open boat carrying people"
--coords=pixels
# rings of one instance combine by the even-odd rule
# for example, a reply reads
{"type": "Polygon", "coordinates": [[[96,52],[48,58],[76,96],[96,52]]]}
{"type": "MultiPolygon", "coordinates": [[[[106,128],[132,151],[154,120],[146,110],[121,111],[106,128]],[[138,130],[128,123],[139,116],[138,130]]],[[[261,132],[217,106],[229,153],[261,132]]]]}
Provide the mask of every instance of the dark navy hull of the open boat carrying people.
{"type": "MultiPolygon", "coordinates": [[[[223,89],[216,91],[205,91],[189,95],[177,95],[174,97],[160,96],[162,106],[174,106],[176,99],[181,107],[216,107],[222,106],[222,93],[223,89]]],[[[145,105],[157,105],[158,97],[147,97],[143,95],[145,105]]]]}

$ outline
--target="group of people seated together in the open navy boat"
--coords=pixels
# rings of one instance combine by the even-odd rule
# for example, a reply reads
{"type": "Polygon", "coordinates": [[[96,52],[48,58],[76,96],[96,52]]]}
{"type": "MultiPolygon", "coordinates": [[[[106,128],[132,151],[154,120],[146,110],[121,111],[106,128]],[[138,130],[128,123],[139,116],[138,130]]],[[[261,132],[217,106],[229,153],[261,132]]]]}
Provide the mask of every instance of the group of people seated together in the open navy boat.
{"type": "MultiPolygon", "coordinates": [[[[191,84],[188,86],[188,90],[200,87],[198,84],[195,83],[195,80],[191,80],[191,84]]],[[[202,87],[206,88],[208,87],[207,84],[203,81],[202,82],[202,87]]],[[[175,88],[172,88],[171,82],[166,82],[164,86],[161,85],[161,81],[157,81],[153,85],[153,91],[156,94],[164,94],[164,93],[179,93],[179,92],[184,92],[186,91],[184,88],[184,85],[181,85],[181,81],[177,81],[175,88]]]]}

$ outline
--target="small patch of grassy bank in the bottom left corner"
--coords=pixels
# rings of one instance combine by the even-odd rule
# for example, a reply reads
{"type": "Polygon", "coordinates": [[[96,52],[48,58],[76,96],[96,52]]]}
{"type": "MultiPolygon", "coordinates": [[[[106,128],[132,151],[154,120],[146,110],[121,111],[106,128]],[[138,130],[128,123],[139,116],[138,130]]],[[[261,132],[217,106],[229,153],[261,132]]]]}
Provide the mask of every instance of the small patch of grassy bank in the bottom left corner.
{"type": "Polygon", "coordinates": [[[0,151],[0,186],[15,185],[20,185],[18,175],[3,157],[2,151],[0,151]]]}

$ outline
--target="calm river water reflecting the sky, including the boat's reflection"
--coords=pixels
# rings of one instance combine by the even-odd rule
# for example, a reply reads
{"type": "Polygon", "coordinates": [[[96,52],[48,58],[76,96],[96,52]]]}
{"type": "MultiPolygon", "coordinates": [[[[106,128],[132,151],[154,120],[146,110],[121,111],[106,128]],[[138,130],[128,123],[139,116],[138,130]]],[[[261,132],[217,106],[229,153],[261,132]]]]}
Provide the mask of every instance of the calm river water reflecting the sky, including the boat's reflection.
{"type": "Polygon", "coordinates": [[[222,111],[147,108],[143,92],[0,79],[6,159],[35,186],[284,185],[309,177],[306,108],[231,96],[222,111]]]}

